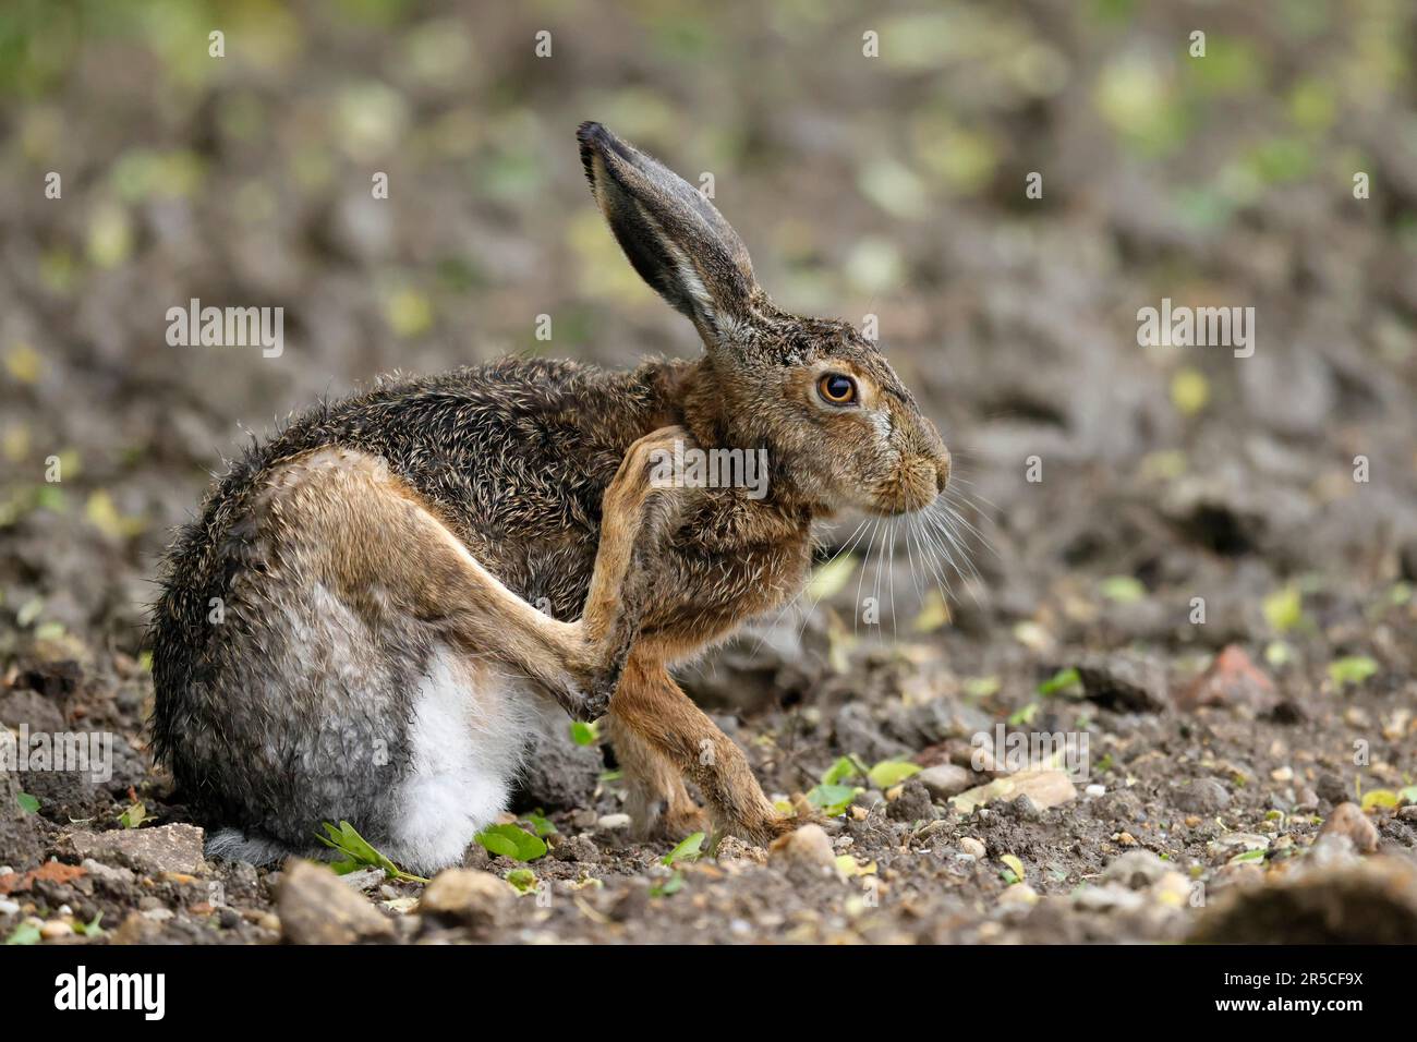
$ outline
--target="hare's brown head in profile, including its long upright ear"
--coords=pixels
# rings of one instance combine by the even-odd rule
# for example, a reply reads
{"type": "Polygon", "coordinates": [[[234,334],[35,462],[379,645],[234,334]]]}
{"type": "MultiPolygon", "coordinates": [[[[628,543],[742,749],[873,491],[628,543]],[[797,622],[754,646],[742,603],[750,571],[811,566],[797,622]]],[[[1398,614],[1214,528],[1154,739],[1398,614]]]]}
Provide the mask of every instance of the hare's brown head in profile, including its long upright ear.
{"type": "Polygon", "coordinates": [[[818,509],[930,506],[949,452],[876,346],[846,322],[777,308],[743,240],[672,170],[599,123],[577,136],[629,262],[703,337],[689,400],[711,417],[720,447],[765,447],[769,481],[818,509]]]}

